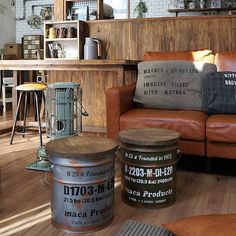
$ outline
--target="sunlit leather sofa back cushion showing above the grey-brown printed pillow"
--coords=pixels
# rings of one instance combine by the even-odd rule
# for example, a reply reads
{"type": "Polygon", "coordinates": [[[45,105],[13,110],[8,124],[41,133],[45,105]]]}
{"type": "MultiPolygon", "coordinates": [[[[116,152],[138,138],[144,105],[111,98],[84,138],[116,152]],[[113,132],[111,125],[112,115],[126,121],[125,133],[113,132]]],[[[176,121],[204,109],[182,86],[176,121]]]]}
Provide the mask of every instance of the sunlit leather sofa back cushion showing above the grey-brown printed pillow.
{"type": "Polygon", "coordinates": [[[181,60],[214,63],[214,59],[215,57],[211,50],[176,52],[148,51],[144,54],[144,61],[181,60]]]}

